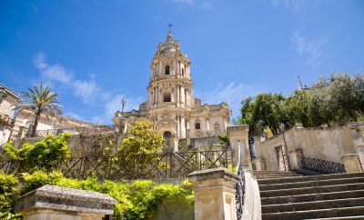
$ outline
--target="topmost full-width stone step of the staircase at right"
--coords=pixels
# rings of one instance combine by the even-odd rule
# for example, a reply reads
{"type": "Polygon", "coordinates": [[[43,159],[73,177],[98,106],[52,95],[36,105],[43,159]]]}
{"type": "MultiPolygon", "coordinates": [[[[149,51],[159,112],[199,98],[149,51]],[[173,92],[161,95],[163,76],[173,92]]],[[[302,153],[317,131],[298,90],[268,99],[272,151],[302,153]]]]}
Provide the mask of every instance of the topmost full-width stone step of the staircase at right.
{"type": "Polygon", "coordinates": [[[294,176],[294,177],[282,177],[275,179],[258,180],[258,185],[270,185],[270,184],[284,184],[295,183],[305,181],[317,181],[317,180],[329,180],[338,178],[352,178],[363,177],[364,173],[351,173],[351,174],[336,174],[336,175],[308,175],[308,176],[294,176]]]}

